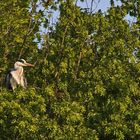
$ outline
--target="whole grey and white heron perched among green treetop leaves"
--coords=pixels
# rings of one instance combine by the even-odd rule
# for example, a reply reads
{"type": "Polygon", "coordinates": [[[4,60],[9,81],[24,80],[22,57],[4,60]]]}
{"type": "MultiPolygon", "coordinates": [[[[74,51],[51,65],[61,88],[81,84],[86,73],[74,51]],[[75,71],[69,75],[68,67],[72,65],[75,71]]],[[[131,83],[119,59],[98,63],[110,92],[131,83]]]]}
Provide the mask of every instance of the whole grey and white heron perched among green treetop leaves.
{"type": "Polygon", "coordinates": [[[7,89],[14,91],[18,85],[22,88],[27,88],[27,80],[24,75],[23,67],[34,67],[33,64],[27,63],[24,59],[20,59],[14,64],[14,68],[10,69],[5,78],[7,89]]]}

